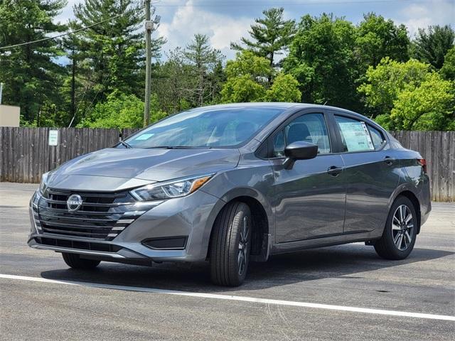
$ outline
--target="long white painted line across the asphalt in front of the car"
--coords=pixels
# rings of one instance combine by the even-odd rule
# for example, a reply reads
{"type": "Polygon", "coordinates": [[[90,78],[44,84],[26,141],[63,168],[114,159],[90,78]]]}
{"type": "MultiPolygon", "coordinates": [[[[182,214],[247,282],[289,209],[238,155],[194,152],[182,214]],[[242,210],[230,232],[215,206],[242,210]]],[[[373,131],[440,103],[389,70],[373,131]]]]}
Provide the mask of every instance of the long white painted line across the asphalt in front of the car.
{"type": "Polygon", "coordinates": [[[112,284],[91,283],[91,282],[56,281],[53,279],[47,279],[47,278],[41,278],[41,277],[16,276],[16,275],[7,275],[7,274],[0,274],[0,278],[16,279],[19,281],[66,284],[66,285],[71,285],[71,286],[90,286],[92,288],[106,288],[106,289],[124,290],[124,291],[139,291],[139,292],[144,292],[144,293],[162,293],[162,294],[164,293],[166,295],[213,298],[213,299],[217,299],[217,300],[244,301],[244,302],[255,302],[255,303],[267,303],[267,304],[274,304],[274,305],[288,305],[288,306],[304,307],[304,308],[350,311],[353,313],[365,313],[365,314],[377,314],[377,315],[402,316],[402,317],[406,317],[406,318],[426,318],[426,319],[431,319],[431,320],[455,321],[455,316],[450,316],[450,315],[410,313],[407,311],[358,308],[358,307],[348,307],[348,306],[344,306],[344,305],[330,305],[330,304],[320,304],[320,303],[271,300],[268,298],[220,295],[220,294],[216,294],[216,293],[192,293],[192,292],[188,292],[188,291],[174,291],[174,290],[156,289],[156,288],[143,288],[143,287],[139,287],[139,286],[116,286],[116,285],[112,285],[112,284]]]}

